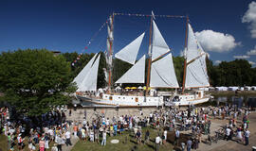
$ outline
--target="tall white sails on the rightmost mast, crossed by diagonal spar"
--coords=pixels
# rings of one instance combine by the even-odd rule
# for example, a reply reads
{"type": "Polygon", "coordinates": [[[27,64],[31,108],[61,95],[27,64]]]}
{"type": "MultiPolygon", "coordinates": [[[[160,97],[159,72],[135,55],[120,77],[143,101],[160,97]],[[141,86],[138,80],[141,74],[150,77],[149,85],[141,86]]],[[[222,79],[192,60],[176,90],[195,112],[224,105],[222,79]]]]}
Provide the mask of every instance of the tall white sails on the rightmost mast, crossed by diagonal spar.
{"type": "Polygon", "coordinates": [[[197,42],[189,24],[188,47],[186,50],[187,71],[185,88],[209,87],[209,76],[206,67],[206,53],[197,42]]]}

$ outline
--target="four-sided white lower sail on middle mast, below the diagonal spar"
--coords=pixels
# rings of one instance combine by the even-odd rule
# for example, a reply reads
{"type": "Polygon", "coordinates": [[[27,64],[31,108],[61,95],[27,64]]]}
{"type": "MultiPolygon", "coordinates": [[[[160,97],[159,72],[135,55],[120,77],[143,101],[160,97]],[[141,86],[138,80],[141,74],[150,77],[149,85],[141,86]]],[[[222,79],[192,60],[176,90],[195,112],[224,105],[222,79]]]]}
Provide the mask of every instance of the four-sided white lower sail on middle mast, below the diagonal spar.
{"type": "Polygon", "coordinates": [[[150,87],[178,88],[172,53],[152,63],[150,87]]]}

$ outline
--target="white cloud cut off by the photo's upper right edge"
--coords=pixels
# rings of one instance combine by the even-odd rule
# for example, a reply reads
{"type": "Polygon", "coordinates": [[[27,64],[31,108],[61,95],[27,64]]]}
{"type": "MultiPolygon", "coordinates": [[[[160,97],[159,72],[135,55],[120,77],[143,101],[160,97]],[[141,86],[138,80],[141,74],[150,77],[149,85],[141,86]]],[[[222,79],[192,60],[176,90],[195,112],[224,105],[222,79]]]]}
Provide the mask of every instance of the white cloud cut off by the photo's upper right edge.
{"type": "Polygon", "coordinates": [[[251,38],[256,38],[256,2],[251,2],[248,5],[247,12],[242,18],[242,23],[248,23],[251,38]]]}

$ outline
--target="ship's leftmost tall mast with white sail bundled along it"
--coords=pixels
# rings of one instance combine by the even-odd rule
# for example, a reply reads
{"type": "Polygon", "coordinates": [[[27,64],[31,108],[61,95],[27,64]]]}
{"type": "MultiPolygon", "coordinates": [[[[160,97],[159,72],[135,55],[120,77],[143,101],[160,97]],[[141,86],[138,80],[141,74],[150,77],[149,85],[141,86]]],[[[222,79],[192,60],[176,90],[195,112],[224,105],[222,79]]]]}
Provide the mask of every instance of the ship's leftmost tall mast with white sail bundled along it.
{"type": "Polygon", "coordinates": [[[114,42],[114,13],[110,16],[110,31],[112,33],[112,38],[108,38],[109,41],[109,56],[110,56],[110,64],[109,64],[109,71],[108,71],[108,88],[109,92],[111,91],[112,88],[112,69],[113,69],[113,42],[114,42]]]}

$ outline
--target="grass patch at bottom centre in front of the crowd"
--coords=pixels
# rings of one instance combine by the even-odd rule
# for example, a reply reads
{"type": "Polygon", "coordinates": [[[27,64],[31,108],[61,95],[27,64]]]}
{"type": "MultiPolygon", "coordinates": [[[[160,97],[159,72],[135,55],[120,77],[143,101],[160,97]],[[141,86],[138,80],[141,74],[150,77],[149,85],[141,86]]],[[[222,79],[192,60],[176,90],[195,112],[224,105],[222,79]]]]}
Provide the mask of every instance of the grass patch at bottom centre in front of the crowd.
{"type": "MultiPolygon", "coordinates": [[[[137,147],[137,150],[139,151],[153,151],[155,150],[155,137],[158,133],[156,129],[152,128],[142,128],[142,140],[144,140],[144,136],[146,133],[146,130],[149,129],[150,131],[150,141],[149,143],[142,143],[137,144],[136,140],[134,139],[134,135],[131,135],[130,132],[125,131],[123,134],[114,137],[107,137],[107,143],[105,146],[101,146],[101,143],[92,143],[89,141],[82,142],[79,141],[75,144],[72,151],[84,151],[84,150],[93,150],[93,151],[126,151],[126,150],[133,150],[133,148],[137,147]],[[128,138],[127,143],[125,142],[125,138],[128,138]],[[111,140],[119,140],[119,143],[113,144],[110,143],[111,140]]],[[[100,139],[101,141],[101,139],[100,139]]],[[[166,143],[163,145],[160,145],[159,150],[172,150],[173,144],[172,143],[166,143]]]]}

